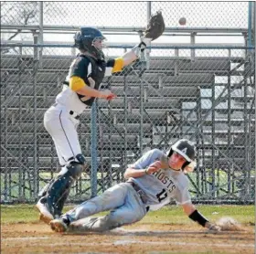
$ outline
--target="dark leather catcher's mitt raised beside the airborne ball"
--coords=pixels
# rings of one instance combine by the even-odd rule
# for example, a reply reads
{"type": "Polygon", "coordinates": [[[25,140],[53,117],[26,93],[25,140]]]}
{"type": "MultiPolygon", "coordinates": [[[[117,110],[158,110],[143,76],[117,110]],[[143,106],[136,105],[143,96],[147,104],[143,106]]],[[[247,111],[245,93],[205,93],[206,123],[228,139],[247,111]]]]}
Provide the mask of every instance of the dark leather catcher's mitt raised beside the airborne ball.
{"type": "Polygon", "coordinates": [[[151,38],[155,40],[160,37],[165,31],[165,21],[162,16],[162,12],[158,11],[155,15],[150,17],[150,20],[144,31],[145,38],[151,38]]]}

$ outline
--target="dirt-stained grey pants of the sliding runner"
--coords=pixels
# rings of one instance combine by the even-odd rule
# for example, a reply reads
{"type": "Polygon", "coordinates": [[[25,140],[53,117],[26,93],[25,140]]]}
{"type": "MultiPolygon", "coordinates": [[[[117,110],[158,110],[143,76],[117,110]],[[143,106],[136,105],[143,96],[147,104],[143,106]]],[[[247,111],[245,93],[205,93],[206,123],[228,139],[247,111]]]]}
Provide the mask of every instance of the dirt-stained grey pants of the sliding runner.
{"type": "Polygon", "coordinates": [[[122,183],[107,189],[101,196],[76,206],[66,215],[71,222],[88,217],[81,222],[83,230],[105,231],[141,220],[146,215],[146,208],[133,186],[122,183]],[[103,217],[90,217],[106,210],[112,211],[103,217]]]}

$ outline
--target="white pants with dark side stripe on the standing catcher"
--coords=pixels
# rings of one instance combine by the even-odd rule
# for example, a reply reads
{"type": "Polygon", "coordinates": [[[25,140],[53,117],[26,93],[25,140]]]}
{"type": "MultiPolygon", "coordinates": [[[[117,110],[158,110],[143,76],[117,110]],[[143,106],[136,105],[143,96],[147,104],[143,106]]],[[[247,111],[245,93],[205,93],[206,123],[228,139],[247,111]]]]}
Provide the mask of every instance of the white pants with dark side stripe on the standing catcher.
{"type": "Polygon", "coordinates": [[[60,165],[68,164],[69,158],[81,153],[77,132],[79,123],[61,104],[55,104],[45,112],[44,125],[53,139],[60,165]]]}

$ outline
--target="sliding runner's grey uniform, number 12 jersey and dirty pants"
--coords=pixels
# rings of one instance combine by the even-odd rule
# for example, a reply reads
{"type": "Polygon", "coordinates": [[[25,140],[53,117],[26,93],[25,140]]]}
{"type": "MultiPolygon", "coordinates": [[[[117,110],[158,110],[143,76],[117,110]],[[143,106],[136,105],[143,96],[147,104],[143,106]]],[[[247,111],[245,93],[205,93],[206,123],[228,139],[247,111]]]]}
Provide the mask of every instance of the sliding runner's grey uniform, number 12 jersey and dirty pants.
{"type": "MultiPolygon", "coordinates": [[[[160,160],[163,155],[164,152],[153,149],[131,167],[145,169],[160,160]]],[[[188,179],[182,171],[163,168],[152,175],[131,177],[126,183],[114,185],[101,196],[83,202],[63,217],[69,217],[70,222],[73,222],[101,211],[112,210],[109,215],[103,217],[87,218],[82,225],[85,230],[105,231],[139,221],[148,210],[160,209],[172,198],[178,205],[191,202],[188,179]],[[133,182],[135,187],[129,182],[133,182]]]]}

